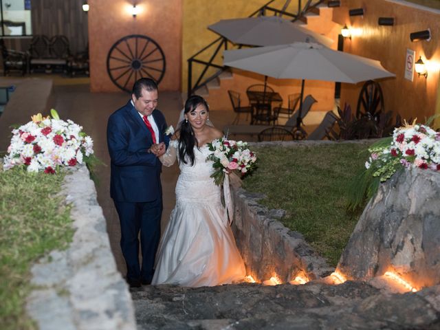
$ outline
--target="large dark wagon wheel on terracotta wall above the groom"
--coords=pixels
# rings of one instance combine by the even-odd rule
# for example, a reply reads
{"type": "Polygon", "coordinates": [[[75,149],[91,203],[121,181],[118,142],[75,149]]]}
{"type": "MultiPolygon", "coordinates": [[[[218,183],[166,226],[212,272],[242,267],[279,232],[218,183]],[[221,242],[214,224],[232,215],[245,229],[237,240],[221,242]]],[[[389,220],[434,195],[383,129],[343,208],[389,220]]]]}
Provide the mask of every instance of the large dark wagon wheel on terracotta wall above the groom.
{"type": "Polygon", "coordinates": [[[107,55],[107,72],[111,81],[129,93],[139,78],[152,78],[160,83],[165,64],[162,48],[153,39],[140,34],[119,39],[107,55]]]}

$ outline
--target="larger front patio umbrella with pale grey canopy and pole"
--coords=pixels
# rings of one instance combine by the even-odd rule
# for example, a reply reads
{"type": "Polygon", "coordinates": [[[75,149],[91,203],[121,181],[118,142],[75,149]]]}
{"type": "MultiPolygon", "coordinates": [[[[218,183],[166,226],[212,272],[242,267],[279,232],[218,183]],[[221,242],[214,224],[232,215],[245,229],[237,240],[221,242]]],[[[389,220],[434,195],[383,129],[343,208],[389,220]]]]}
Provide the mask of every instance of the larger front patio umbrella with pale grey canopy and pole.
{"type": "Polygon", "coordinates": [[[301,79],[300,129],[305,80],[359,83],[364,80],[394,77],[379,61],[331,50],[317,43],[292,43],[223,52],[223,65],[274,78],[301,79]]]}

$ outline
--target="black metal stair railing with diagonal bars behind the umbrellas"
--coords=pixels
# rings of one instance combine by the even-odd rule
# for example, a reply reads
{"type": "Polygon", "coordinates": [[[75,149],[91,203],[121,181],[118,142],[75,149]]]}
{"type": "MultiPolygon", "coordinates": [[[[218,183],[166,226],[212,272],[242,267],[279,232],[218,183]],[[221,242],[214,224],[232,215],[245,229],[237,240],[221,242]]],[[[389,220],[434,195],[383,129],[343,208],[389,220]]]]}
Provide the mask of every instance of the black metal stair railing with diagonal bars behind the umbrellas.
{"type": "MultiPolygon", "coordinates": [[[[298,0],[298,12],[296,14],[285,11],[289,5],[289,0],[286,1],[285,5],[281,9],[270,6],[274,1],[275,0],[267,2],[265,5],[259,8],[259,10],[256,10],[250,14],[249,17],[269,16],[267,13],[272,12],[273,16],[286,16],[289,17],[292,22],[294,22],[300,19],[300,17],[303,17],[305,13],[311,10],[311,8],[315,8],[321,3],[324,3],[326,0],[307,0],[305,2],[298,0]],[[303,3],[305,3],[305,5],[303,5],[303,3]]],[[[221,50],[228,50],[228,47],[241,48],[242,45],[235,45],[234,43],[228,41],[228,39],[225,39],[223,36],[221,36],[188,58],[188,96],[194,94],[197,89],[203,87],[211,80],[214,80],[217,78],[217,76],[219,76],[219,74],[221,74],[221,72],[223,72],[225,67],[223,67],[221,50]],[[195,72],[193,65],[201,65],[201,67],[198,67],[200,73],[194,80],[195,84],[192,84],[192,75],[195,72]],[[206,76],[208,76],[208,78],[205,78],[206,76]]]]}

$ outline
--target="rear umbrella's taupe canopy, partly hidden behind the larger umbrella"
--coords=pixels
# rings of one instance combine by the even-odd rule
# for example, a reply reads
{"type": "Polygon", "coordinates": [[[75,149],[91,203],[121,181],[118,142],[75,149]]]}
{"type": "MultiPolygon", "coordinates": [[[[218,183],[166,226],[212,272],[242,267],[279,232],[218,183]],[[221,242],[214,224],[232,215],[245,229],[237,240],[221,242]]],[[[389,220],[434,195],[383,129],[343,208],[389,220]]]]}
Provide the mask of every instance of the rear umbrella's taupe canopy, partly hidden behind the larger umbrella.
{"type": "Polygon", "coordinates": [[[277,16],[222,19],[209,25],[208,29],[233,43],[242,45],[271,46],[309,40],[329,47],[333,43],[333,40],[327,36],[322,36],[277,16]]]}

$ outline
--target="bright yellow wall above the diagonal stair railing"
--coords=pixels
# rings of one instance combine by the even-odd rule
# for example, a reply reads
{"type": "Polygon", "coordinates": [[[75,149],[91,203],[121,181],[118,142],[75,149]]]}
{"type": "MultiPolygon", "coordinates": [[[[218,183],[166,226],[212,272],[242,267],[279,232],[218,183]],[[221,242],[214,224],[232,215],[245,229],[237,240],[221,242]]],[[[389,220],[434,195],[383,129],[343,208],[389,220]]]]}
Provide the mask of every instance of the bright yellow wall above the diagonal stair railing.
{"type": "MultiPolygon", "coordinates": [[[[199,52],[219,37],[218,34],[208,30],[208,25],[217,23],[221,19],[234,19],[248,17],[250,14],[265,5],[268,0],[184,0],[183,1],[183,42],[182,42],[182,91],[186,91],[188,83],[188,58],[199,52]]],[[[305,1],[303,1],[304,3],[305,1]]],[[[271,3],[274,8],[283,8],[285,0],[275,0],[271,3]]],[[[298,0],[292,0],[287,8],[288,12],[298,10],[298,0]]],[[[213,51],[213,50],[212,50],[213,51]]],[[[220,54],[221,55],[221,54],[220,54]]],[[[205,55],[207,61],[210,55],[205,55]],[[207,57],[208,56],[208,57],[207,57]]],[[[221,64],[221,57],[217,58],[221,64]]],[[[194,67],[200,72],[200,67],[194,67]]]]}

